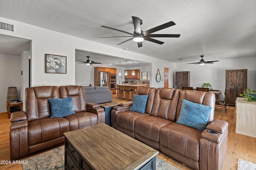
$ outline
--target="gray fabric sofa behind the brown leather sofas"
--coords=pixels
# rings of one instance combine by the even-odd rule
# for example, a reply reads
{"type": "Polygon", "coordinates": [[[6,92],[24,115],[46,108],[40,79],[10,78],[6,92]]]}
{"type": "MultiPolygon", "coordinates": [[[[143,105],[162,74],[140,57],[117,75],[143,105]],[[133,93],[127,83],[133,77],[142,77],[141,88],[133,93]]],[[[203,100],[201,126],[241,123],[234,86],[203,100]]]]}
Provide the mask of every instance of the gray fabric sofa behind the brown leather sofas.
{"type": "Polygon", "coordinates": [[[108,87],[84,87],[87,103],[108,103],[112,102],[112,91],[108,87]]]}

